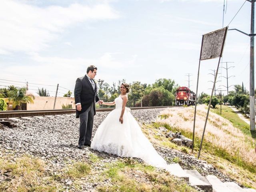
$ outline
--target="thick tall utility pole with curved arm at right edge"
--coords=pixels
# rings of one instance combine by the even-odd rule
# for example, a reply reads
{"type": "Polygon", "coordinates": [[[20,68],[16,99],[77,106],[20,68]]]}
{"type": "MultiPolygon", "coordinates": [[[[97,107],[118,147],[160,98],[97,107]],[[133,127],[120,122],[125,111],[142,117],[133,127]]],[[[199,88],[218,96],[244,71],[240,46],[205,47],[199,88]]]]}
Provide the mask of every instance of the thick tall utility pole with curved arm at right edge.
{"type": "Polygon", "coordinates": [[[246,0],[250,2],[251,5],[251,30],[250,34],[237,30],[242,34],[250,37],[250,130],[255,131],[255,91],[254,91],[254,2],[255,0],[246,0]]]}

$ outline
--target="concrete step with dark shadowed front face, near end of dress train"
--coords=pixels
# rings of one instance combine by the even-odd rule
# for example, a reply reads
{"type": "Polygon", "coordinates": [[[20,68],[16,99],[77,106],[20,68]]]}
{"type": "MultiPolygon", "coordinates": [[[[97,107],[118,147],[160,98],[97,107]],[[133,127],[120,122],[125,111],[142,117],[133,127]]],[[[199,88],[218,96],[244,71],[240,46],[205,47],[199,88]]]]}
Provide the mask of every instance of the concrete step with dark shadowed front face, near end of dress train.
{"type": "Polygon", "coordinates": [[[212,185],[197,170],[185,170],[189,175],[189,182],[192,186],[198,186],[206,192],[212,192],[212,185]]]}

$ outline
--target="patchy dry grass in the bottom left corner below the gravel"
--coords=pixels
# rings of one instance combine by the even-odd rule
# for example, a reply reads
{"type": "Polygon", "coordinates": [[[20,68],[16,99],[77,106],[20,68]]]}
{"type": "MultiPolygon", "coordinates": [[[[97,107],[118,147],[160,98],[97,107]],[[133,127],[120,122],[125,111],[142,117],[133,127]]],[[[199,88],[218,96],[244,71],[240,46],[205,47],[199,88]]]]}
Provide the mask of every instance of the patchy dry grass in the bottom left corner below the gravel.
{"type": "Polygon", "coordinates": [[[2,174],[9,175],[10,180],[0,184],[0,191],[6,192],[54,192],[62,190],[61,184],[45,170],[44,160],[32,156],[22,156],[13,159],[4,156],[0,159],[2,174]]]}

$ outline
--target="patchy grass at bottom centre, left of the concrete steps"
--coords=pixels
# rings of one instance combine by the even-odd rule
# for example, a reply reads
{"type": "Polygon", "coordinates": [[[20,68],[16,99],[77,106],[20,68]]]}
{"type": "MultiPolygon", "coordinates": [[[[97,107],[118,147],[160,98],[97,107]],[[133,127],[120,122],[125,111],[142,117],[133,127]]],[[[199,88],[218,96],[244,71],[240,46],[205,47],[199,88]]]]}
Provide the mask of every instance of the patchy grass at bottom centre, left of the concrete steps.
{"type": "Polygon", "coordinates": [[[111,178],[112,185],[98,187],[100,192],[196,192],[184,180],[133,159],[106,164],[103,174],[111,178]],[[132,173],[138,170],[136,178],[132,173]]]}

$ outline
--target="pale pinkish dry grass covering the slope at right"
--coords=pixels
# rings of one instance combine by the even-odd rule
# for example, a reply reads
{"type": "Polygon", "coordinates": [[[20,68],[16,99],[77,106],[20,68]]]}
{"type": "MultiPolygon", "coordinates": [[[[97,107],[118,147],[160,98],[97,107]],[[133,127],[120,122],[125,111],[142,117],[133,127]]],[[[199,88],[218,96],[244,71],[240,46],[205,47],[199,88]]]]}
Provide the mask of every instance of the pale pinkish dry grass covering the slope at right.
{"type": "MultiPolygon", "coordinates": [[[[207,110],[204,105],[197,107],[195,126],[197,137],[202,136],[206,112],[207,110]]],[[[180,130],[193,132],[194,107],[168,108],[162,111],[161,114],[168,115],[169,117],[158,119],[158,122],[169,124],[170,127],[180,130]]],[[[255,164],[256,166],[256,155],[254,152],[255,139],[249,135],[245,135],[228,120],[212,112],[208,116],[204,140],[227,150],[233,156],[240,156],[244,161],[255,164]]]]}

